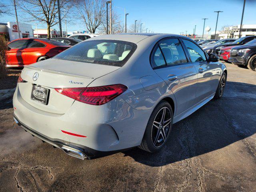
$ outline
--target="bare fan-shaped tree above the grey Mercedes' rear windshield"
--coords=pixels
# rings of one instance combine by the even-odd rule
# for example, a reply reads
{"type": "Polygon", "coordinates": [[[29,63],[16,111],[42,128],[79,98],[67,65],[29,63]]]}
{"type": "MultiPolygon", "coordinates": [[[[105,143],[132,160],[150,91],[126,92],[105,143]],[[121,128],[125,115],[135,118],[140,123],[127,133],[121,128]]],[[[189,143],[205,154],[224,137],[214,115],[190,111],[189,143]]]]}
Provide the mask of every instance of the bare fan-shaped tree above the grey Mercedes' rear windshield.
{"type": "Polygon", "coordinates": [[[106,0],[75,0],[75,5],[86,28],[90,33],[95,33],[106,13],[106,0]]]}

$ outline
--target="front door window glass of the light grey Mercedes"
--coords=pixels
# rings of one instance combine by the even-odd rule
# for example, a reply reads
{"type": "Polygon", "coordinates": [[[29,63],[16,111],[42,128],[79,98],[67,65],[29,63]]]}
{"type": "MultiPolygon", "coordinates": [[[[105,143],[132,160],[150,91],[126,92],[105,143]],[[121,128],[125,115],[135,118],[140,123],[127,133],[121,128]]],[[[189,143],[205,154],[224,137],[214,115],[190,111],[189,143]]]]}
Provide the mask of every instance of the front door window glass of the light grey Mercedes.
{"type": "Polygon", "coordinates": [[[204,51],[200,49],[195,43],[185,39],[182,41],[188,49],[188,53],[190,54],[192,62],[206,61],[204,51]]]}

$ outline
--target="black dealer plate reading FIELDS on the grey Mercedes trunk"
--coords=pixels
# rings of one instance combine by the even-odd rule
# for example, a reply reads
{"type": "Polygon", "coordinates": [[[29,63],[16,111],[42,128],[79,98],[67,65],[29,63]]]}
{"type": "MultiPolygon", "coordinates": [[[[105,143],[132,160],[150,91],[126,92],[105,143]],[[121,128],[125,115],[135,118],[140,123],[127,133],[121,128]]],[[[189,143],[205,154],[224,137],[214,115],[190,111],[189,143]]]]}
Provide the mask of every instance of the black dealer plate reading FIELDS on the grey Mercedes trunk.
{"type": "Polygon", "coordinates": [[[42,103],[44,105],[48,104],[50,90],[41,86],[33,85],[31,99],[42,103]]]}

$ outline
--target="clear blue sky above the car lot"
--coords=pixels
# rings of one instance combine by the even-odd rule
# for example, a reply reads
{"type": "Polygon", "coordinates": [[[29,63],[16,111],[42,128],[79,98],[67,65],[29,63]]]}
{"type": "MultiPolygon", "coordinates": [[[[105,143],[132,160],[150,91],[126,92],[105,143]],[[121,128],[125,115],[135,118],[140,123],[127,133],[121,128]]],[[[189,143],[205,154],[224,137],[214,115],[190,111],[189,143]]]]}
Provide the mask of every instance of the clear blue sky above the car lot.
{"type": "MultiPolygon", "coordinates": [[[[4,0],[4,2],[12,2],[4,0]]],[[[145,27],[154,32],[180,34],[187,30],[193,32],[196,25],[196,34],[202,34],[203,20],[206,26],[215,30],[217,13],[214,11],[224,11],[220,13],[217,30],[224,25],[237,25],[241,22],[243,0],[112,0],[112,8],[124,19],[124,10],[117,7],[126,8],[127,26],[134,23],[134,20],[141,20],[145,27]]],[[[244,12],[243,24],[256,24],[256,0],[247,0],[244,12]]],[[[19,10],[18,14],[22,14],[19,10]]],[[[14,16],[2,16],[0,22],[14,21],[14,16]]],[[[26,22],[20,19],[21,22],[26,22]]],[[[26,22],[28,23],[28,22],[26,22]]],[[[35,23],[35,22],[34,22],[35,23]]],[[[30,24],[34,24],[31,22],[30,24]]],[[[40,26],[45,24],[40,23],[40,26]]],[[[63,25],[63,24],[62,24],[63,25]]],[[[33,27],[34,28],[34,27],[33,27]]],[[[39,27],[38,27],[39,28],[39,27]]],[[[58,29],[58,26],[54,26],[58,29]]],[[[68,31],[86,30],[81,24],[68,24],[68,31]]]]}

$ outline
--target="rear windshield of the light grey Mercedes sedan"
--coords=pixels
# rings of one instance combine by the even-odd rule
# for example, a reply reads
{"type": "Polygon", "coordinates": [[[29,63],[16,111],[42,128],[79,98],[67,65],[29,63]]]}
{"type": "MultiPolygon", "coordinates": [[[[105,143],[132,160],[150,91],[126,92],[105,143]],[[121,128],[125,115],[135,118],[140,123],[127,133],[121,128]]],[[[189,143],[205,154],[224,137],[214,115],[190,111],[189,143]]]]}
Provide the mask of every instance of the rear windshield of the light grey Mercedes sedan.
{"type": "Polygon", "coordinates": [[[55,56],[55,59],[122,67],[137,45],[118,40],[87,40],[55,56]]]}

